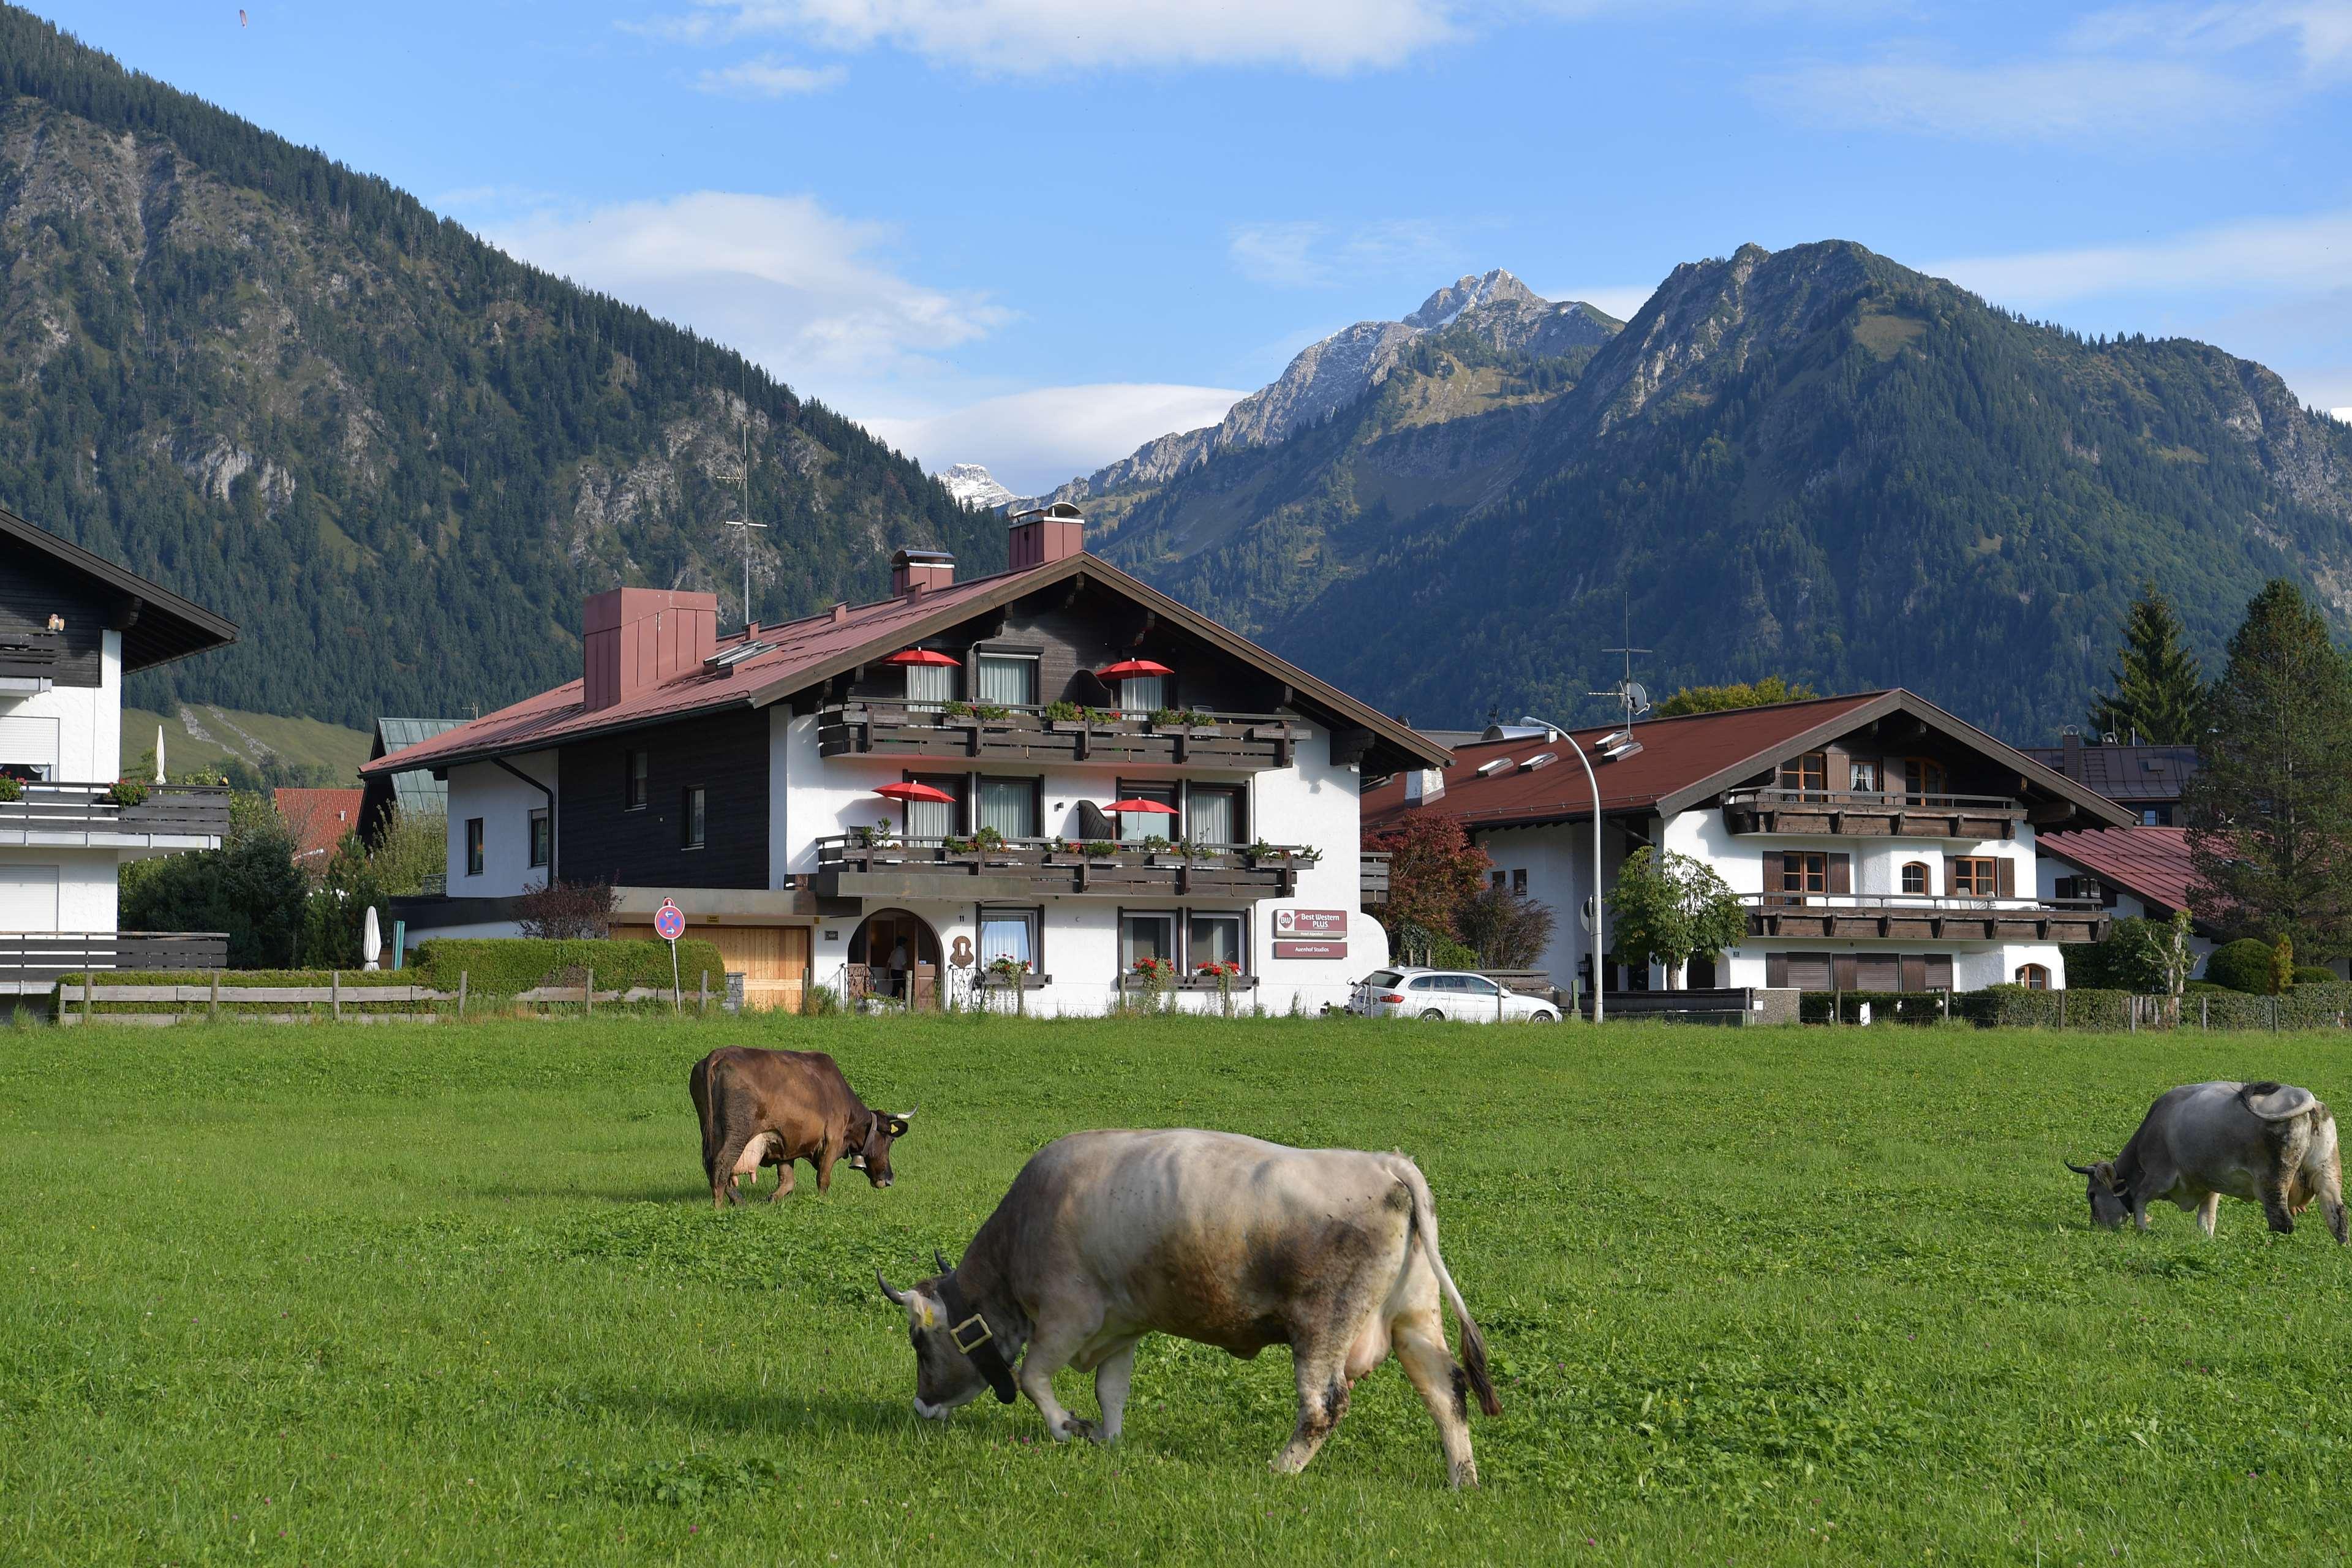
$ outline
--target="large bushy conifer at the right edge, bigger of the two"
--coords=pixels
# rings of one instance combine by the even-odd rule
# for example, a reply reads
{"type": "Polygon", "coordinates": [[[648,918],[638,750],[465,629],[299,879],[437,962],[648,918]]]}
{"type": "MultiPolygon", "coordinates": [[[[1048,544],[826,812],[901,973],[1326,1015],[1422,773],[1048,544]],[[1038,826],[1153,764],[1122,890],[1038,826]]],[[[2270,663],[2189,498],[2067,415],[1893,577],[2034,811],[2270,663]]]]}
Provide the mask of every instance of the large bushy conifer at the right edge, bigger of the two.
{"type": "Polygon", "coordinates": [[[2303,592],[2246,607],[2190,780],[2197,914],[2230,936],[2352,952],[2352,668],[2303,592]]]}

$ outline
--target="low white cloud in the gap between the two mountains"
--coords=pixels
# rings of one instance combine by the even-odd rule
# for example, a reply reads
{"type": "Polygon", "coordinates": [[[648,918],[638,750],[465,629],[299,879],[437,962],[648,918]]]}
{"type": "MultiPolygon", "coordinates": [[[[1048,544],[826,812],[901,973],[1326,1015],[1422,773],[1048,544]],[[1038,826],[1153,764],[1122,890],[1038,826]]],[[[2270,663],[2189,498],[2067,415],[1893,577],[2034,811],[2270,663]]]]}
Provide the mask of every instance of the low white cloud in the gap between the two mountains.
{"type": "Polygon", "coordinates": [[[1000,484],[1035,496],[1124,458],[1157,435],[1214,425],[1242,397],[1218,386],[1047,386],[960,409],[861,423],[934,473],[948,463],[985,463],[1000,484]]]}

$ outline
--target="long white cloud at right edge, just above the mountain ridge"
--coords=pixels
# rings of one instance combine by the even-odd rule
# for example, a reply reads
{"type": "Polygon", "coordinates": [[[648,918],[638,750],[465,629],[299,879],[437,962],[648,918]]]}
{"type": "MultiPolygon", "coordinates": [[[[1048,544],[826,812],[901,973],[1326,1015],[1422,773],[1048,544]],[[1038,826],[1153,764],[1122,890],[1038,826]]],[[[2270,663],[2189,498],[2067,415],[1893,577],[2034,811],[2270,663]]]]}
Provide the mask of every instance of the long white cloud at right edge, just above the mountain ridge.
{"type": "Polygon", "coordinates": [[[2107,294],[2317,294],[2352,277],[2352,212],[2223,223],[2131,244],[1962,256],[1926,270],[1997,306],[2056,306],[2107,294]]]}

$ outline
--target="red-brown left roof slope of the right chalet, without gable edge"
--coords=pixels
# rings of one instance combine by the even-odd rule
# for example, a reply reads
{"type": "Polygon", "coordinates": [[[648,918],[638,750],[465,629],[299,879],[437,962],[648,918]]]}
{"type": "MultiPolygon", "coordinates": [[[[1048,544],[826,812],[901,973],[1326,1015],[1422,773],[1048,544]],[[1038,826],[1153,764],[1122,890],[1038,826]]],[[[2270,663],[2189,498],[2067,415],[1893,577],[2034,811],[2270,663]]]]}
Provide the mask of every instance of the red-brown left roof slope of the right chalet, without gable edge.
{"type": "MultiPolygon", "coordinates": [[[[1783,748],[1820,724],[1870,705],[1879,696],[1879,691],[1863,691],[1856,696],[1825,696],[1811,703],[1693,712],[1679,719],[1646,719],[1635,724],[1635,738],[1642,743],[1639,752],[1623,762],[1592,764],[1592,783],[1602,788],[1602,811],[1642,811],[1656,806],[1668,795],[1700,778],[1783,748]]],[[[1595,729],[1571,729],[1569,733],[1576,736],[1576,743],[1590,757],[1592,743],[1613,729],[1618,726],[1602,724],[1595,729]]],[[[1416,809],[1404,804],[1404,776],[1399,773],[1378,790],[1364,792],[1364,827],[1378,827],[1416,809]]],[[[1477,741],[1454,752],[1454,766],[1446,769],[1446,792],[1430,802],[1428,809],[1465,823],[1534,823],[1592,816],[1592,785],[1585,783],[1585,771],[1564,741],[1477,741]],[[1517,766],[1543,752],[1559,752],[1559,762],[1534,771],[1517,766]],[[1482,766],[1503,757],[1510,757],[1510,769],[1491,778],[1479,778],[1482,766]]]]}

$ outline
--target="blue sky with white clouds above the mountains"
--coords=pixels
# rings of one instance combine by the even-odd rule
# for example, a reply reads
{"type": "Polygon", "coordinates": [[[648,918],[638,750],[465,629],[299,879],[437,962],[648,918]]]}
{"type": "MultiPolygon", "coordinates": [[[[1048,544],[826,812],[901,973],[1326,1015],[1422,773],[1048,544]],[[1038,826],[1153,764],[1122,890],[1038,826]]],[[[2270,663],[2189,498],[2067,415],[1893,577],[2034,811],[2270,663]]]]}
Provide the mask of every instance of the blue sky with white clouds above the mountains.
{"type": "Polygon", "coordinates": [[[2352,0],[35,0],[1042,489],[1505,266],[1858,240],[2352,407],[2352,0]]]}

